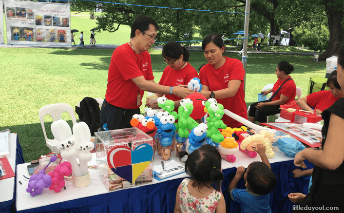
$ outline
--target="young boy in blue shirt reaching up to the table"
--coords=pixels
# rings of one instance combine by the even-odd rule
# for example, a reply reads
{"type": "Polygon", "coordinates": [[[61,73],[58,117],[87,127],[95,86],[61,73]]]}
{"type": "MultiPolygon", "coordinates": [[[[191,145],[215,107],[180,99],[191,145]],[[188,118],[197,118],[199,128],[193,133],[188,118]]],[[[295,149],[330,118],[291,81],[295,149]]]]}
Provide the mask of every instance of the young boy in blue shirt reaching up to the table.
{"type": "Polygon", "coordinates": [[[271,212],[270,192],[276,187],[277,178],[271,170],[269,160],[265,154],[265,146],[257,144],[253,148],[260,156],[262,162],[251,163],[246,170],[239,166],[230,185],[232,200],[240,203],[241,212],[271,212]],[[245,173],[245,174],[244,174],[245,173]],[[237,189],[239,180],[244,176],[246,189],[237,189]]]}

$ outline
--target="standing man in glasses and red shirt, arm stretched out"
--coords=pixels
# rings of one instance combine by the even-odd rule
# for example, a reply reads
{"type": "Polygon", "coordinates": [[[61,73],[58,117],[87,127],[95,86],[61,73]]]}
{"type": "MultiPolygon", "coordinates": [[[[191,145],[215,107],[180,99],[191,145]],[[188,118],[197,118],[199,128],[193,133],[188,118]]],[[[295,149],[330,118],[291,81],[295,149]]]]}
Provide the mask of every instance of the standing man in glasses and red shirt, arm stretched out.
{"type": "Polygon", "coordinates": [[[141,114],[144,91],[176,94],[181,98],[193,92],[186,85],[167,87],[154,83],[147,51],[155,43],[158,29],[154,19],[140,15],[132,23],[130,41],[113,51],[100,113],[101,131],[131,127],[132,115],[141,114]]]}

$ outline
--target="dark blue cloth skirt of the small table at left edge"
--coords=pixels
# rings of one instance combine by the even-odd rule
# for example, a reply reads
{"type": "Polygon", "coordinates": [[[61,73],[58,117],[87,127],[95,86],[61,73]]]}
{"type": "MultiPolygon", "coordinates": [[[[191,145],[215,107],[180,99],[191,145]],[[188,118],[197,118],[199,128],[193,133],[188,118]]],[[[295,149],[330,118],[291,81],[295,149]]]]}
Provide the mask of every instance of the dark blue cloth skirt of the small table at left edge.
{"type": "MultiPolygon", "coordinates": [[[[18,135],[17,135],[17,139],[16,139],[16,156],[15,156],[15,168],[12,168],[14,170],[14,190],[13,190],[13,199],[9,200],[9,201],[5,201],[0,203],[0,212],[5,212],[5,213],[10,213],[12,212],[12,205],[15,203],[15,189],[16,189],[16,175],[17,175],[17,170],[16,167],[18,164],[22,164],[25,163],[24,161],[24,157],[23,157],[23,150],[22,150],[22,146],[19,143],[19,139],[18,139],[18,135]]],[[[4,193],[4,192],[2,192],[4,193]]],[[[15,206],[13,206],[13,208],[15,208],[15,206]]]]}

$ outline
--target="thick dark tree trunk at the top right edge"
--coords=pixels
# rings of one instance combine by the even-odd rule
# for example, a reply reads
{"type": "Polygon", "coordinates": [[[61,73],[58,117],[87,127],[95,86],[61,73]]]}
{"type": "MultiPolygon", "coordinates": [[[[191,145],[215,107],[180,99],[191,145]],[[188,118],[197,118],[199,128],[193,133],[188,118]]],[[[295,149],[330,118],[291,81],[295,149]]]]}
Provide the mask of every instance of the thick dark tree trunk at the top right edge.
{"type": "Polygon", "coordinates": [[[324,0],[326,14],[329,21],[329,30],[330,30],[330,41],[329,45],[320,56],[319,60],[326,60],[328,57],[331,57],[339,49],[340,45],[343,42],[344,29],[341,26],[341,20],[343,18],[343,11],[341,10],[343,5],[329,5],[333,4],[334,0],[324,0]],[[339,8],[340,10],[336,10],[339,8]]]}

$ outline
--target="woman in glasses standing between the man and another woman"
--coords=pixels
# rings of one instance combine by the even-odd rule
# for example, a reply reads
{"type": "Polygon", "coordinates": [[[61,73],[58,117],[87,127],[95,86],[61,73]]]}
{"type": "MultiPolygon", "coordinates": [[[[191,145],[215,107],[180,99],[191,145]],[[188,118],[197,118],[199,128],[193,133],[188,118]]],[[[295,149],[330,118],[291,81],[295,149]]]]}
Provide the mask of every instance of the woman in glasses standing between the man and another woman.
{"type": "MultiPolygon", "coordinates": [[[[159,84],[163,86],[174,87],[178,85],[187,85],[193,78],[199,78],[196,69],[187,61],[189,60],[189,51],[177,42],[168,42],[162,48],[164,63],[168,66],[162,73],[159,84]]],[[[156,94],[158,97],[164,94],[156,94]]],[[[175,102],[175,110],[180,106],[182,98],[174,94],[165,94],[168,100],[175,102]]],[[[152,106],[153,109],[159,109],[158,104],[152,106]]]]}

